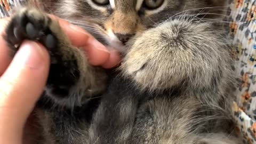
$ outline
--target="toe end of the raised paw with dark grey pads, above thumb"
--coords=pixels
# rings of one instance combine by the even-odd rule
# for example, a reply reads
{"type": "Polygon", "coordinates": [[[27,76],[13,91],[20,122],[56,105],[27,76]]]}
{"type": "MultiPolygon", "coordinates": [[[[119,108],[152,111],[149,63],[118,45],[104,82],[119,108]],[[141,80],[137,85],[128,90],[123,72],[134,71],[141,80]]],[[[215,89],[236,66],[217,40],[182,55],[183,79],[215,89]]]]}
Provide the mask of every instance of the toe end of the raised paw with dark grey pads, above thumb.
{"type": "Polygon", "coordinates": [[[52,20],[46,14],[36,9],[22,9],[7,26],[5,39],[14,52],[25,39],[38,41],[47,49],[53,49],[57,47],[58,39],[51,25],[52,20]]]}

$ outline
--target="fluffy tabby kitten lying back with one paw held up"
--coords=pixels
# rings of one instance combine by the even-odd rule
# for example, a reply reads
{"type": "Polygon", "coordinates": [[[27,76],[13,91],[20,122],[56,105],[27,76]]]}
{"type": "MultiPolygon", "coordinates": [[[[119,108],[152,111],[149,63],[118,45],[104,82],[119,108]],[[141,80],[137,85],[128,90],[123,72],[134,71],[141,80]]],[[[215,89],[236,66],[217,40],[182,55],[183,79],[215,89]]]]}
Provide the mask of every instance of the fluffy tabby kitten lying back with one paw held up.
{"type": "Polygon", "coordinates": [[[30,39],[51,55],[38,143],[241,143],[230,116],[226,8],[223,0],[38,0],[17,10],[5,36],[13,54],[30,39]],[[121,66],[89,65],[47,13],[121,52],[121,66]]]}

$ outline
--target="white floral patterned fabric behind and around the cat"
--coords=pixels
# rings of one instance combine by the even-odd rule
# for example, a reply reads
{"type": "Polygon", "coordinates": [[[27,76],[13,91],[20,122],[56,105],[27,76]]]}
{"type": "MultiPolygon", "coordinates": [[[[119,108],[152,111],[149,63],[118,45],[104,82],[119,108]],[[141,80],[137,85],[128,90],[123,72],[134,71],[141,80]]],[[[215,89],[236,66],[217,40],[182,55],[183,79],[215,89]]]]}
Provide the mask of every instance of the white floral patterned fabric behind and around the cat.
{"type": "MultiPolygon", "coordinates": [[[[0,0],[0,18],[26,0],[0,0]]],[[[230,36],[236,46],[236,72],[243,84],[237,88],[234,119],[246,144],[256,144],[256,0],[233,0],[230,5],[230,36]]]]}

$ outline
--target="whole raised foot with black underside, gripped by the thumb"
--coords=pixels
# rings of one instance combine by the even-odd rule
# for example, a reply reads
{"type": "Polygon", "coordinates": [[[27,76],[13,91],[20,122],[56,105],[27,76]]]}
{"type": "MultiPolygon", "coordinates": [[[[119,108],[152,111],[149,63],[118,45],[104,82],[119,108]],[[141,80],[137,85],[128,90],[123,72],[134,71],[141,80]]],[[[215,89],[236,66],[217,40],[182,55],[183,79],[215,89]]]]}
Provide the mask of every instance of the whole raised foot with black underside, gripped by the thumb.
{"type": "Polygon", "coordinates": [[[49,51],[51,66],[42,106],[49,100],[61,106],[81,106],[105,90],[105,71],[90,66],[84,52],[71,44],[58,21],[49,15],[36,9],[22,9],[12,17],[5,32],[14,54],[25,39],[41,43],[49,51]]]}

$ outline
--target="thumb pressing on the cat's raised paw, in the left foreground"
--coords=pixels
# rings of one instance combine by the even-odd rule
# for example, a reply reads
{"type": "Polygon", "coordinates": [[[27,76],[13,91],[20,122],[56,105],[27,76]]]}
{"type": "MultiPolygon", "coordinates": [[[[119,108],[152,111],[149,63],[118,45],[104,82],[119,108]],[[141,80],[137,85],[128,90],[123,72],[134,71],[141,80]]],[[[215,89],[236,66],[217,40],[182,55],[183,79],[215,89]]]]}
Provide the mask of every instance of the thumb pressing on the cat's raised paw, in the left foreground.
{"type": "Polygon", "coordinates": [[[43,46],[26,41],[0,78],[0,143],[21,143],[23,126],[42,94],[50,57],[43,46]]]}

